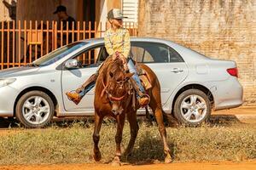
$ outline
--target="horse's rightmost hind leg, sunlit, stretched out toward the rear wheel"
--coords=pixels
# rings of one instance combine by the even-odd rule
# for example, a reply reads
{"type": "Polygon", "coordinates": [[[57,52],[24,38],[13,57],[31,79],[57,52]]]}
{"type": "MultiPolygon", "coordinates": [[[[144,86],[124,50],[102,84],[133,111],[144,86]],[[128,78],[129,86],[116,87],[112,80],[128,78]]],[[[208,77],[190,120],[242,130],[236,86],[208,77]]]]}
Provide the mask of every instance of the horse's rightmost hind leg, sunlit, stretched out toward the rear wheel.
{"type": "Polygon", "coordinates": [[[164,150],[165,150],[165,153],[166,153],[165,162],[170,163],[170,162],[172,162],[172,156],[170,154],[171,150],[169,149],[169,146],[168,146],[167,141],[166,141],[166,127],[165,127],[165,124],[164,124],[162,109],[157,104],[150,105],[150,107],[151,107],[152,111],[155,114],[156,122],[158,123],[159,131],[160,131],[160,135],[161,135],[161,138],[162,138],[163,143],[164,143],[164,150]]]}

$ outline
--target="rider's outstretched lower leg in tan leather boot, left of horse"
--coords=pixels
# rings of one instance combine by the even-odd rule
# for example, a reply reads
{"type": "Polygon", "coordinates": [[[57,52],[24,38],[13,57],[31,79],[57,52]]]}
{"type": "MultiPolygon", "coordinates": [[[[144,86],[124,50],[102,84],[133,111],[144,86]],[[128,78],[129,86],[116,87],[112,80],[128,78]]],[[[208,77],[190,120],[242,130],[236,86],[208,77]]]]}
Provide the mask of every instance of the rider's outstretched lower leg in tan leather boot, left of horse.
{"type": "Polygon", "coordinates": [[[77,88],[75,91],[71,91],[71,92],[67,92],[67,98],[72,100],[73,103],[75,103],[76,105],[79,105],[79,102],[81,101],[81,99],[84,97],[84,95],[90,90],[87,88],[91,88],[93,83],[96,82],[96,78],[97,78],[97,74],[93,74],[89,77],[89,79],[87,79],[86,82],[84,82],[84,84],[80,87],[77,88]],[[82,91],[87,90],[87,92],[85,92],[83,95],[80,95],[80,93],[82,91]]]}

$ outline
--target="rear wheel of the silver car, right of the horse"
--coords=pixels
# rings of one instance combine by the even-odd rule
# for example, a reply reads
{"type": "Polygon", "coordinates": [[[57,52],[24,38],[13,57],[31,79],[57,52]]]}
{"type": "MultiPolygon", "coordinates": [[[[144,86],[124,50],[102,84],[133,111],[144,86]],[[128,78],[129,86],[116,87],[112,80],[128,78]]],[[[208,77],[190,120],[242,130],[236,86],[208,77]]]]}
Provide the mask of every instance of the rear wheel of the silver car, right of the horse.
{"type": "Polygon", "coordinates": [[[210,100],[198,89],[189,89],[177,97],[174,105],[174,116],[181,124],[200,125],[211,115],[210,100]]]}

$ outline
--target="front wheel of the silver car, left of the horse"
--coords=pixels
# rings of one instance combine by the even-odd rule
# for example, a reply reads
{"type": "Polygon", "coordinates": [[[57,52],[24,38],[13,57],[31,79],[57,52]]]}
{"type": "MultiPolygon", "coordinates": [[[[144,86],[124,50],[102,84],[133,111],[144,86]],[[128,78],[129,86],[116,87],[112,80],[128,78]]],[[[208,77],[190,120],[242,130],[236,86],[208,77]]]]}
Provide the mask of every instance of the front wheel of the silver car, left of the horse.
{"type": "Polygon", "coordinates": [[[18,100],[16,118],[25,127],[44,127],[55,113],[55,107],[48,94],[31,91],[18,100]]]}

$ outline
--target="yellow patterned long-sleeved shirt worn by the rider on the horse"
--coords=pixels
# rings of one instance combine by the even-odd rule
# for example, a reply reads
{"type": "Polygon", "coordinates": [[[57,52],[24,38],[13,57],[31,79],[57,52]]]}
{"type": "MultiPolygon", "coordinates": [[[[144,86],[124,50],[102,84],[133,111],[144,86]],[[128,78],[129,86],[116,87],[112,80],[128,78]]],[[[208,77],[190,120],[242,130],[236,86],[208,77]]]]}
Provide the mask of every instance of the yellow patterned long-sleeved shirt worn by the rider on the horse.
{"type": "Polygon", "coordinates": [[[126,59],[129,57],[131,49],[130,34],[125,28],[120,27],[116,31],[109,28],[105,32],[104,42],[109,55],[119,52],[123,54],[126,59]]]}

